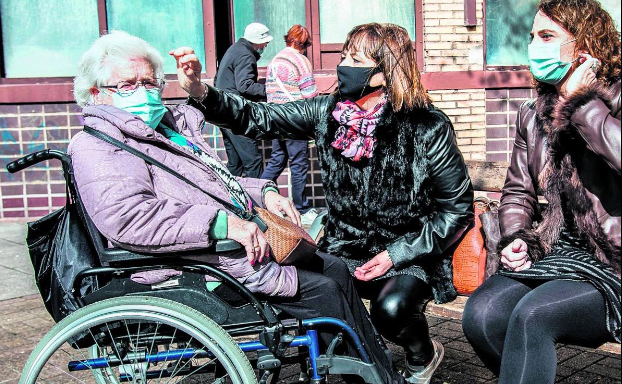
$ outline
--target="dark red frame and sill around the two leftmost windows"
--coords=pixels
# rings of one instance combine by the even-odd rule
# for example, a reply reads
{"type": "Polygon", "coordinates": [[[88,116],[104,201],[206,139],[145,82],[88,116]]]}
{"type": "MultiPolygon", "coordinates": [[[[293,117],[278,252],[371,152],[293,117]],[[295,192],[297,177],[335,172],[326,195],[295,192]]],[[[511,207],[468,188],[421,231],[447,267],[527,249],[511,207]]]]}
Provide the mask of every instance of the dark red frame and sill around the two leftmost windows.
{"type": "MultiPolygon", "coordinates": [[[[203,11],[203,44],[205,63],[203,75],[213,78],[216,74],[216,50],[213,0],[201,0],[203,11]]],[[[100,36],[108,30],[106,0],[97,0],[97,17],[100,36]]],[[[1,17],[0,17],[1,23],[1,17]]],[[[0,34],[1,34],[0,24],[0,34]]],[[[7,78],[4,71],[4,47],[0,35],[0,104],[2,103],[57,103],[73,101],[73,77],[25,77],[7,78]]],[[[164,98],[185,98],[175,75],[167,75],[164,98]]]]}

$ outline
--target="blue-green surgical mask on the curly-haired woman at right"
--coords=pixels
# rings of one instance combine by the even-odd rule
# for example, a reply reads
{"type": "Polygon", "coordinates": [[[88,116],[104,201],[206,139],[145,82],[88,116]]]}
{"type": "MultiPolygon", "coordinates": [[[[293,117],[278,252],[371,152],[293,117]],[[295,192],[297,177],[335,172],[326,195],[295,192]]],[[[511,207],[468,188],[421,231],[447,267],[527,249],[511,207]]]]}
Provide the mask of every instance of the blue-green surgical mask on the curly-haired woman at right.
{"type": "Polygon", "coordinates": [[[572,62],[562,62],[562,45],[574,40],[560,43],[531,43],[527,49],[529,54],[529,70],[539,82],[557,84],[568,73],[572,62]]]}

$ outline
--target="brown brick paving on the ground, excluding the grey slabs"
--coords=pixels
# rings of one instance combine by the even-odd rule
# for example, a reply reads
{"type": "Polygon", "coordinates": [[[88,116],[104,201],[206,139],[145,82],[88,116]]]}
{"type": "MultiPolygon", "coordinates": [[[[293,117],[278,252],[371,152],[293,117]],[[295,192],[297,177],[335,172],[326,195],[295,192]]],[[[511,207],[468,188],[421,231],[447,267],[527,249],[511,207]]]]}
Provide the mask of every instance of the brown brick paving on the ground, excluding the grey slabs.
{"type": "MultiPolygon", "coordinates": [[[[445,346],[445,358],[433,384],[496,383],[466,342],[457,320],[429,315],[430,334],[445,346]]],[[[0,383],[17,383],[21,368],[40,338],[53,326],[38,294],[0,301],[0,383]]],[[[402,367],[400,347],[389,345],[396,365],[402,367]]],[[[557,349],[559,383],[620,383],[620,355],[560,345],[557,349]]],[[[295,367],[284,369],[281,383],[297,377],[295,367]]],[[[338,376],[328,383],[341,383],[338,376]]]]}

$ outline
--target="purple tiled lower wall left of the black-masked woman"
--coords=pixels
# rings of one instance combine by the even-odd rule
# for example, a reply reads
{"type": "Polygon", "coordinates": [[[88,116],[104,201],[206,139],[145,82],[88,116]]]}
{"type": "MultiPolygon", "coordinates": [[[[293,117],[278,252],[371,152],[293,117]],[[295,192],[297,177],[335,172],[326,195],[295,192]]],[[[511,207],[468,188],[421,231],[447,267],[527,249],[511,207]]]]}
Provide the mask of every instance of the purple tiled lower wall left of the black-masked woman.
{"type": "MultiPolygon", "coordinates": [[[[25,171],[9,174],[9,162],[45,148],[67,150],[73,134],[82,129],[81,108],[73,103],[46,105],[0,105],[0,219],[35,218],[65,204],[65,181],[59,161],[47,161],[25,171]]],[[[226,161],[220,131],[208,124],[205,139],[226,161]]],[[[271,143],[260,144],[264,160],[271,143]]],[[[315,147],[310,148],[307,197],[312,206],[322,207],[324,197],[315,147]]],[[[282,195],[289,196],[290,174],[285,169],[277,180],[282,195]]]]}

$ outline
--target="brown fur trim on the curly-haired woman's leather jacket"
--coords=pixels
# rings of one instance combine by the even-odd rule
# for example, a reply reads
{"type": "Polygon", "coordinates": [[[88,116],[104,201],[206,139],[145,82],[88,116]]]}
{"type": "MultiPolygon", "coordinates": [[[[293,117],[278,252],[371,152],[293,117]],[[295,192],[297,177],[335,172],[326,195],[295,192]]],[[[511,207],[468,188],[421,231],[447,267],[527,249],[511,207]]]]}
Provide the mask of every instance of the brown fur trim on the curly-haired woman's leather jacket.
{"type": "Polygon", "coordinates": [[[536,229],[542,241],[542,253],[548,253],[562,231],[572,225],[588,250],[619,273],[620,248],[611,243],[598,223],[592,200],[577,171],[575,162],[580,161],[587,149],[570,119],[574,111],[595,98],[600,98],[611,108],[613,95],[598,85],[582,88],[568,100],[560,102],[554,87],[545,86],[538,91],[536,125],[546,135],[548,144],[547,161],[539,182],[549,205],[536,229]]]}

